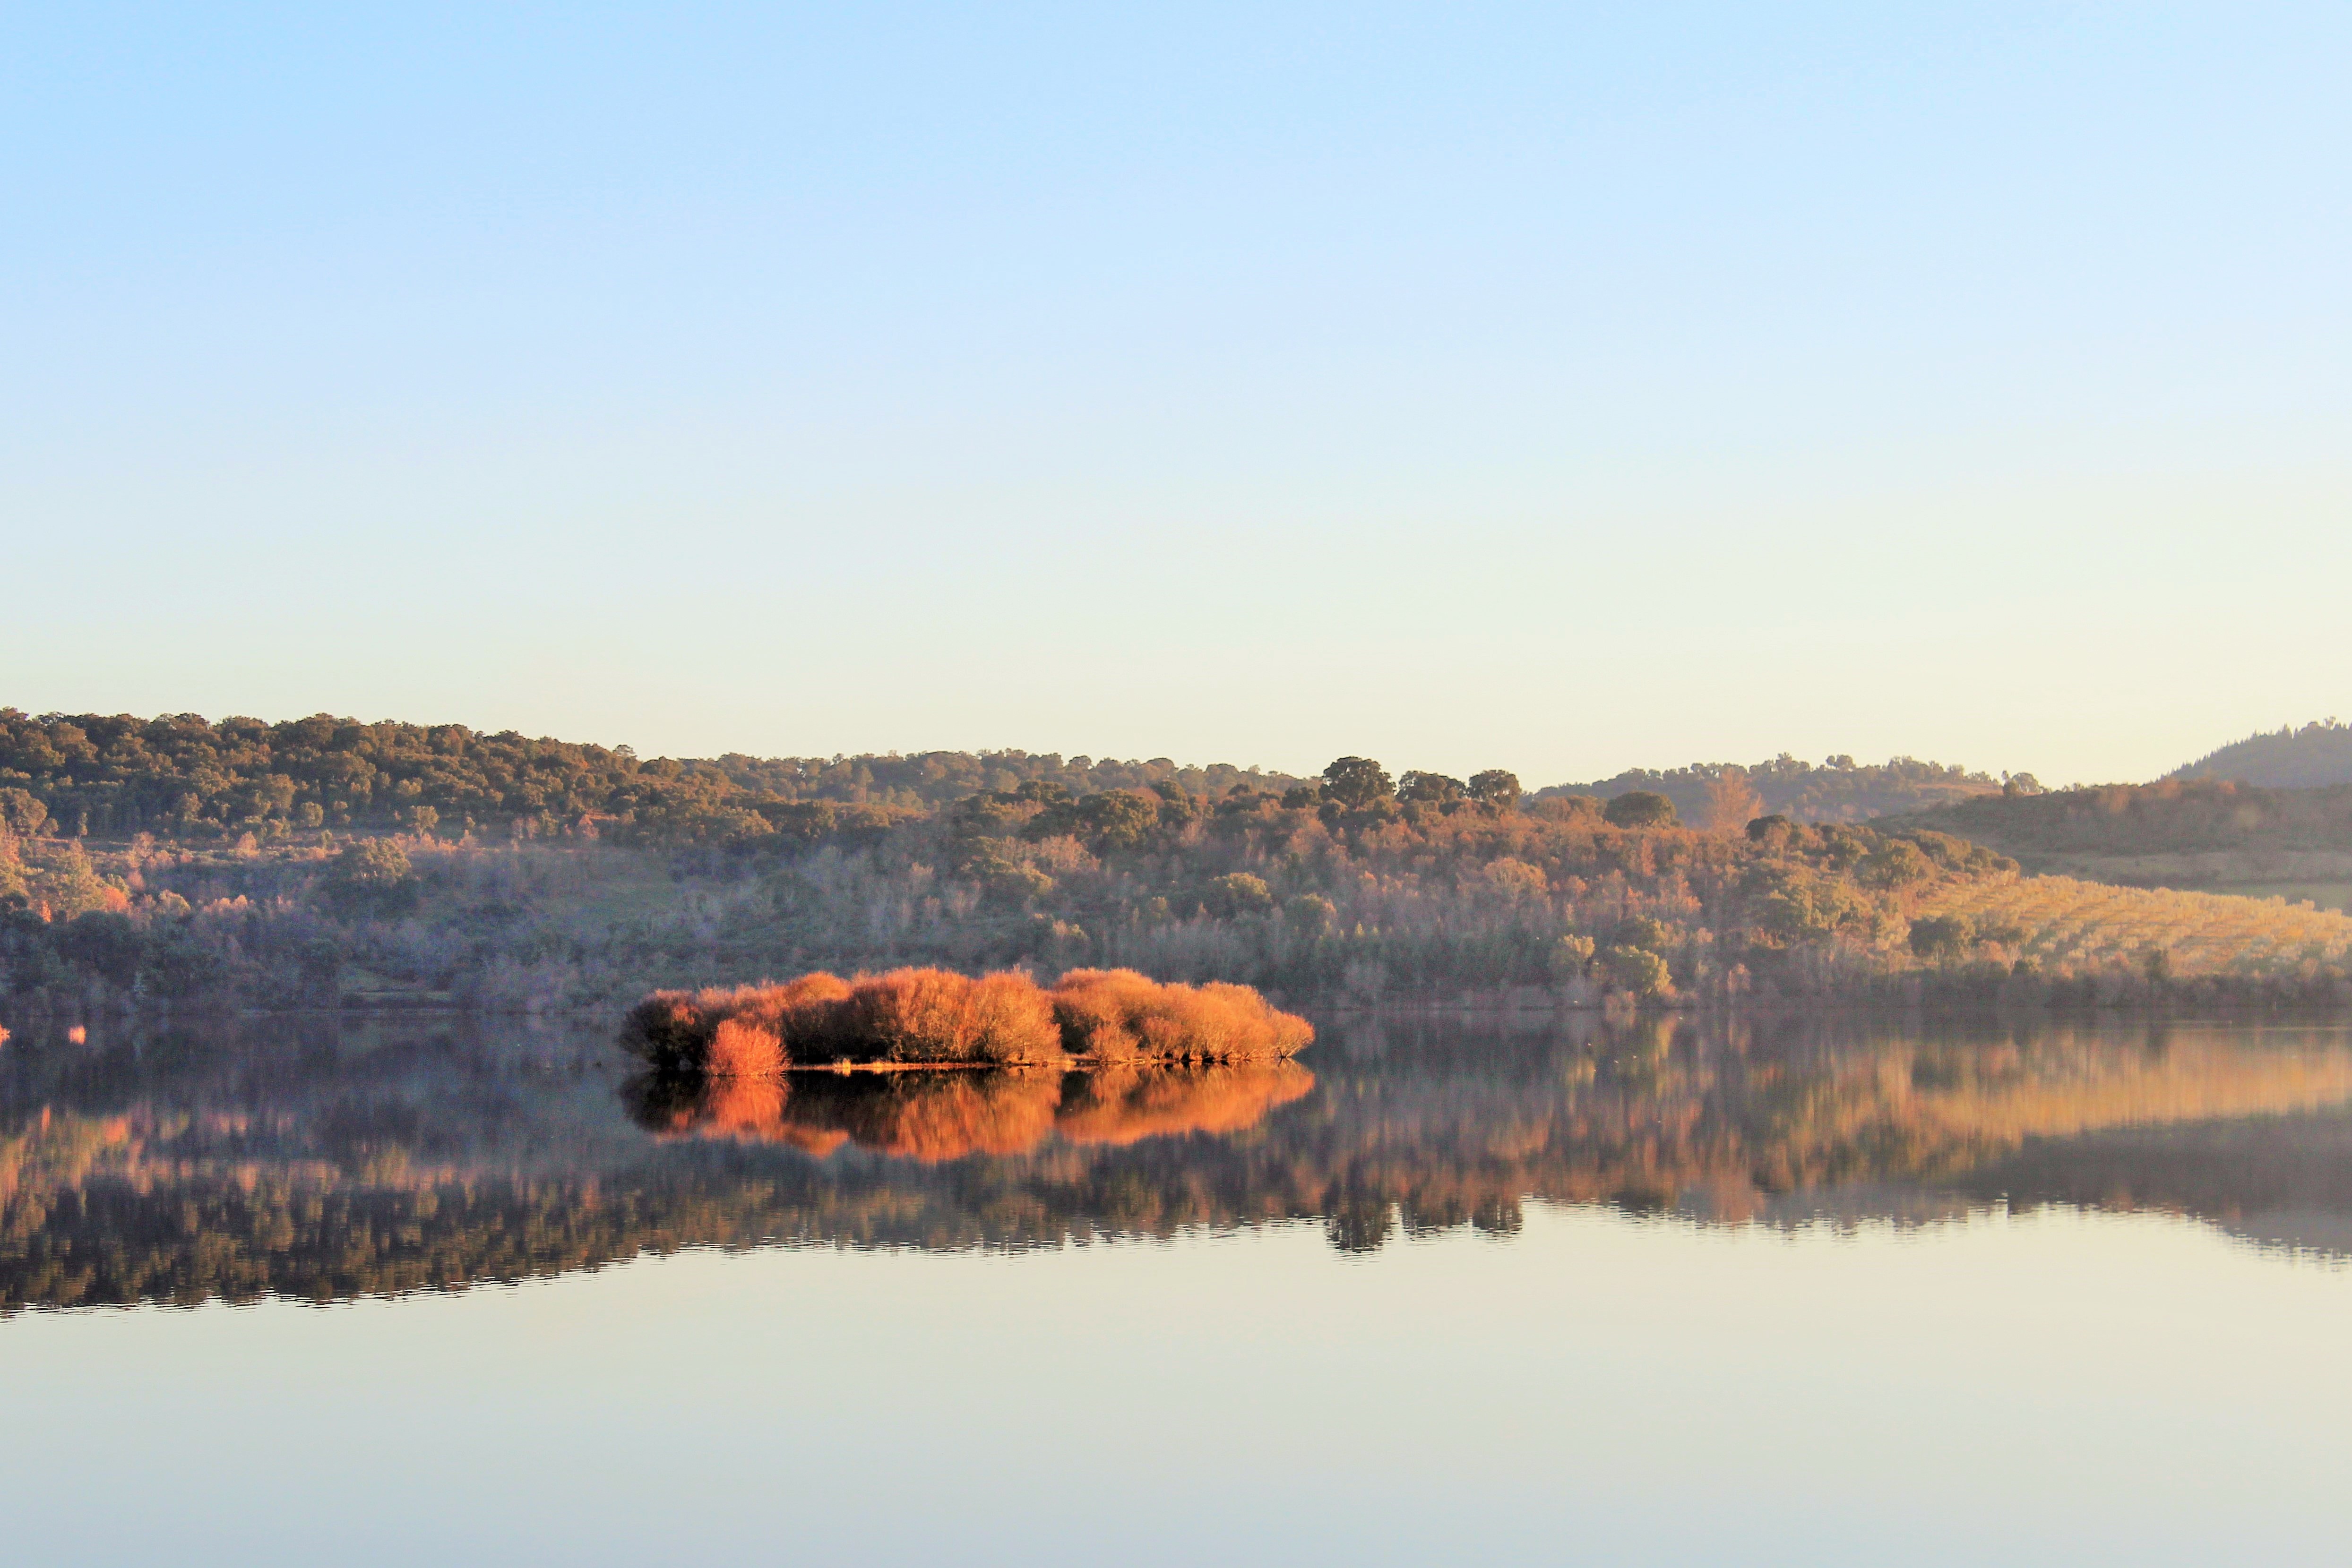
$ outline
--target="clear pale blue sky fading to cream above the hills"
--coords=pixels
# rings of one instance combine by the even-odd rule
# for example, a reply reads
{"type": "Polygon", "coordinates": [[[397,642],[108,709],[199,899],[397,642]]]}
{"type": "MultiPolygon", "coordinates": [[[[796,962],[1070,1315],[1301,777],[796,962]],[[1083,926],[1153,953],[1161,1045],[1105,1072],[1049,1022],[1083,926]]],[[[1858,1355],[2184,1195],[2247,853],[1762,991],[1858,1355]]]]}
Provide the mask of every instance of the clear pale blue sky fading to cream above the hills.
{"type": "Polygon", "coordinates": [[[2352,9],[0,9],[0,705],[2152,778],[2352,717],[2352,9]]]}

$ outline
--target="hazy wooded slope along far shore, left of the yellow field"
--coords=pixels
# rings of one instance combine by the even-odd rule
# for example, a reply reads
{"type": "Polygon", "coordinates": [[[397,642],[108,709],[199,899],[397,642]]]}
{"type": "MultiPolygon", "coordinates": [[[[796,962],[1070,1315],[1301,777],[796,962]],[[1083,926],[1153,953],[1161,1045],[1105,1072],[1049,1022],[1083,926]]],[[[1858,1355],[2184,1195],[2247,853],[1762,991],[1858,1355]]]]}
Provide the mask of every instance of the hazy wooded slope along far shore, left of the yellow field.
{"type": "MultiPolygon", "coordinates": [[[[1357,999],[1820,994],[1912,966],[1907,922],[1936,889],[2013,875],[1929,830],[1703,830],[1649,790],[1526,799],[1503,769],[1392,776],[1367,757],[1214,795],[1023,780],[931,811],[783,802],[729,832],[633,827],[45,839],[0,893],[0,980],[19,997],[485,1009],[901,966],[1357,999]]],[[[2006,964],[1997,936],[1938,961],[2006,964]]]]}

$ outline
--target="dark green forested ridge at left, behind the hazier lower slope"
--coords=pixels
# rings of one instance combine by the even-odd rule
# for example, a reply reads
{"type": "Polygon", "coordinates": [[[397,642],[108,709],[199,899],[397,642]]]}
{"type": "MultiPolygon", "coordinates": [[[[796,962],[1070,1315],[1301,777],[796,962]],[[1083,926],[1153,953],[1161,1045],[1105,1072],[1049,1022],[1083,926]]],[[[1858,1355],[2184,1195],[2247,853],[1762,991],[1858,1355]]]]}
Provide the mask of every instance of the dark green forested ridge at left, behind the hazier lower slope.
{"type": "Polygon", "coordinates": [[[66,837],[240,837],[315,827],[555,832],[581,818],[623,837],[706,842],[762,835],[835,802],[887,820],[967,795],[1058,785],[1068,795],[1176,785],[1190,795],[1296,785],[1284,773],[1167,757],[1117,762],[1030,752],[915,757],[637,759],[463,724],[360,724],[315,715],[285,724],[200,715],[40,715],[0,708],[0,827],[66,837]]]}

